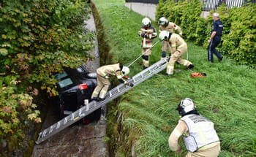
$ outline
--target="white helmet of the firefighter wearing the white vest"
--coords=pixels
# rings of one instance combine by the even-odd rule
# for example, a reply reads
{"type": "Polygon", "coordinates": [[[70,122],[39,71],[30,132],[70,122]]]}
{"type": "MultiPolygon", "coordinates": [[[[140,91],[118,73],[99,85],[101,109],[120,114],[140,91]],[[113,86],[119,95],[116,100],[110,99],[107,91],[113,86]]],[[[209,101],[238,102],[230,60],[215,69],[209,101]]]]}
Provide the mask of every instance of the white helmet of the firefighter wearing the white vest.
{"type": "Polygon", "coordinates": [[[192,110],[195,110],[195,104],[190,98],[182,99],[181,102],[178,104],[178,107],[176,110],[178,110],[178,113],[183,116],[187,112],[190,112],[192,110]]]}

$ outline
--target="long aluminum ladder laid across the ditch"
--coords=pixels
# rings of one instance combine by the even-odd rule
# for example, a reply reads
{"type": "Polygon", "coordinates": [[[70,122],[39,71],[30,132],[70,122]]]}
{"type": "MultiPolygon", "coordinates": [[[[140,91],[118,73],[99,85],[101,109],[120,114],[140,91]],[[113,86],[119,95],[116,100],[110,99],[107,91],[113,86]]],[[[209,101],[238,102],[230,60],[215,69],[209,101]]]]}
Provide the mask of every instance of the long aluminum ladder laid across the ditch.
{"type": "MultiPolygon", "coordinates": [[[[153,64],[152,66],[148,67],[142,72],[136,74],[131,79],[127,80],[127,82],[133,83],[134,87],[136,85],[139,85],[140,83],[143,83],[143,81],[148,80],[154,74],[157,74],[162,70],[164,70],[166,68],[168,58],[169,57],[161,59],[156,64],[153,64]]],[[[54,134],[59,133],[59,131],[72,125],[72,123],[75,123],[78,120],[84,118],[86,115],[89,115],[91,112],[94,112],[100,107],[103,107],[105,104],[107,104],[113,99],[116,99],[118,96],[121,96],[123,93],[129,91],[131,88],[133,87],[130,87],[129,85],[124,85],[124,83],[121,83],[120,85],[116,86],[116,88],[113,88],[112,90],[108,91],[105,100],[101,102],[92,101],[86,106],[81,107],[79,110],[72,112],[67,117],[63,118],[62,120],[59,120],[59,122],[54,123],[52,126],[48,127],[48,129],[41,131],[36,141],[37,145],[39,145],[41,142],[44,142],[49,137],[52,137],[54,134]]]]}

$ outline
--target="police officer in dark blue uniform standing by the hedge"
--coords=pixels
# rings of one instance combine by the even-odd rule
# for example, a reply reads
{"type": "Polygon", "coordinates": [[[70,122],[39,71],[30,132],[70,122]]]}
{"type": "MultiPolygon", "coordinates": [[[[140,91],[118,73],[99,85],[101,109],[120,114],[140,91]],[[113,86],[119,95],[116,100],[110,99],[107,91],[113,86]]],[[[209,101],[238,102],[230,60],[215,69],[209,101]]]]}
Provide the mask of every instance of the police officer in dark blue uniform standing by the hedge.
{"type": "Polygon", "coordinates": [[[219,13],[215,12],[212,16],[214,19],[213,28],[211,30],[211,37],[208,39],[208,61],[211,63],[214,62],[214,56],[213,53],[217,56],[219,61],[222,61],[222,55],[215,49],[220,42],[220,39],[222,37],[222,31],[223,31],[223,23],[219,20],[219,13]]]}

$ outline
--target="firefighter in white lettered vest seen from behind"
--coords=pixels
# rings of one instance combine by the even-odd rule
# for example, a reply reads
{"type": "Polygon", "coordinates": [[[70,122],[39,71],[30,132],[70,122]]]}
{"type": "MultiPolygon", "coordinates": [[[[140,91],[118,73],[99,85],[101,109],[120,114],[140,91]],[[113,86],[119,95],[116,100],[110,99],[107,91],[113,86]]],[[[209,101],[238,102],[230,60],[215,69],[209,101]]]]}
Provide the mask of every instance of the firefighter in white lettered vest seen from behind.
{"type": "Polygon", "coordinates": [[[182,99],[176,110],[181,115],[181,119],[170,134],[170,150],[181,152],[178,139],[182,135],[189,151],[186,157],[217,157],[220,152],[220,142],[214,123],[198,114],[192,99],[182,99]]]}

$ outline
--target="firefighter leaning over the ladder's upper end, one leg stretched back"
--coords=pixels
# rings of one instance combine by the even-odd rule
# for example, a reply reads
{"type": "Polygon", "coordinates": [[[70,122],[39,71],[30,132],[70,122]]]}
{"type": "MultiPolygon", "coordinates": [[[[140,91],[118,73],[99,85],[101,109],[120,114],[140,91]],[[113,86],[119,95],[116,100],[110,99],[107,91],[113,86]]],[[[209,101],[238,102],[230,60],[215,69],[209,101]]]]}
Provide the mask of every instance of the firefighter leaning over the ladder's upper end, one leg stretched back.
{"type": "Polygon", "coordinates": [[[194,65],[187,60],[182,59],[183,55],[187,53],[187,43],[178,34],[170,33],[169,31],[161,31],[159,34],[160,41],[165,40],[170,45],[170,56],[169,64],[167,65],[166,76],[170,76],[174,71],[174,64],[176,61],[178,64],[187,66],[187,69],[192,69],[194,65]]]}

